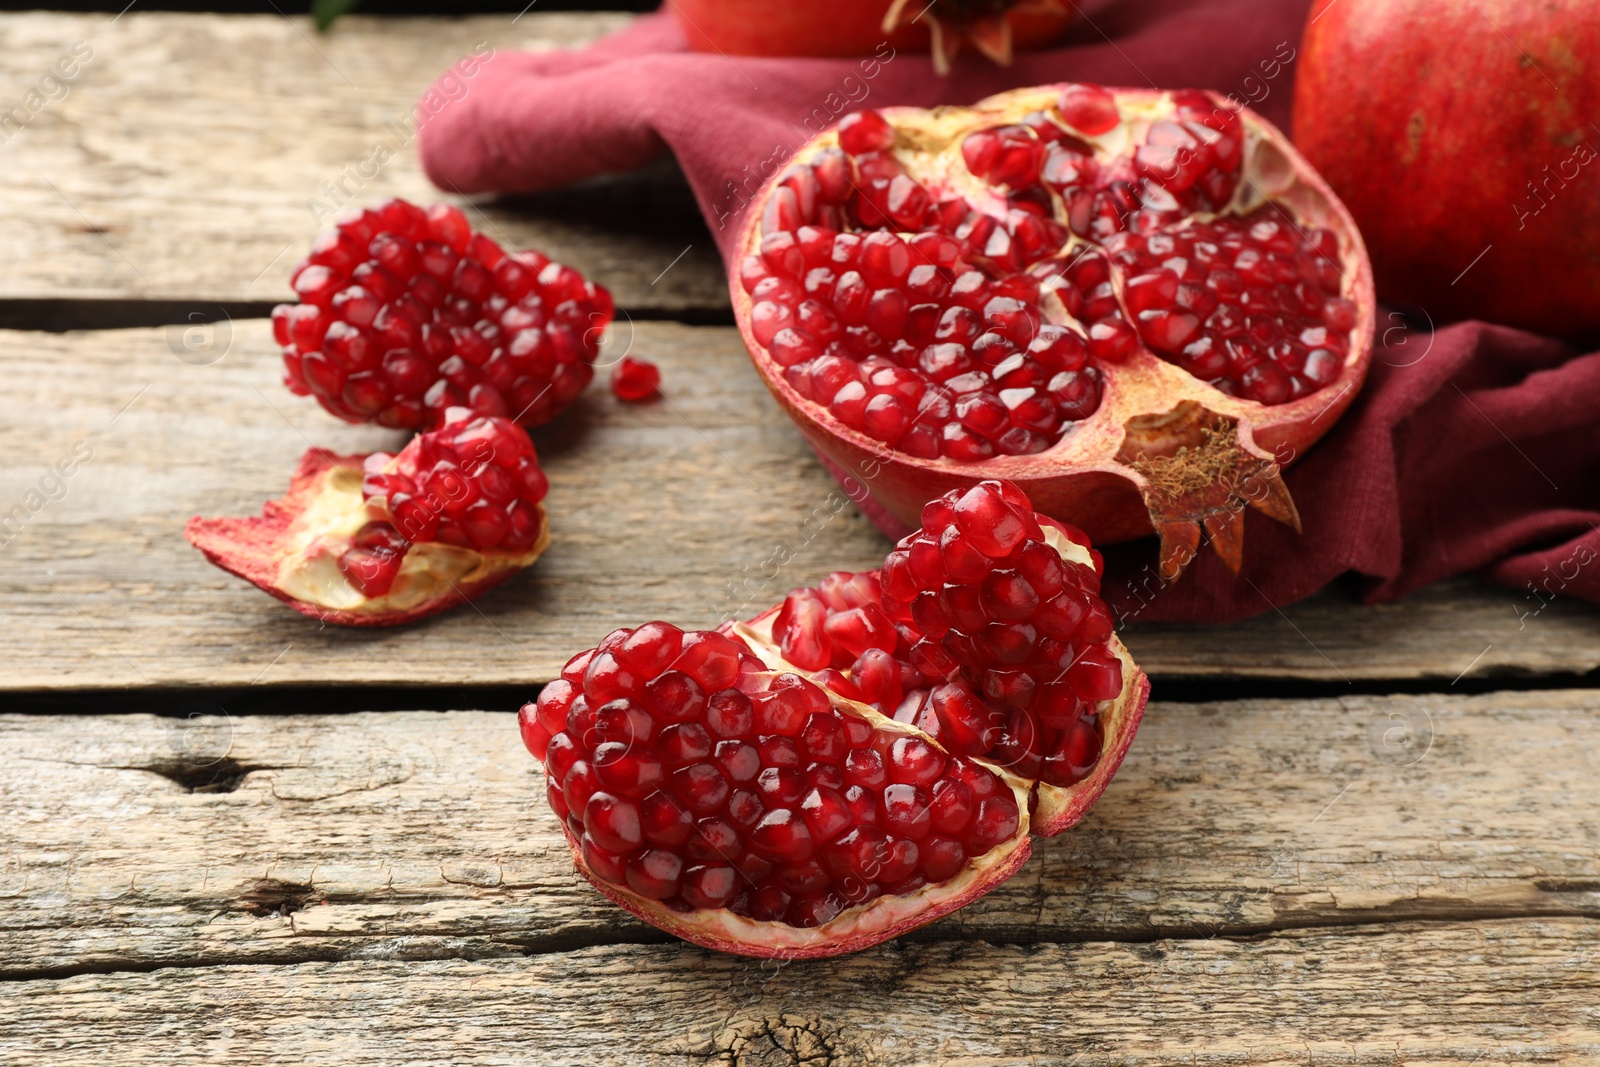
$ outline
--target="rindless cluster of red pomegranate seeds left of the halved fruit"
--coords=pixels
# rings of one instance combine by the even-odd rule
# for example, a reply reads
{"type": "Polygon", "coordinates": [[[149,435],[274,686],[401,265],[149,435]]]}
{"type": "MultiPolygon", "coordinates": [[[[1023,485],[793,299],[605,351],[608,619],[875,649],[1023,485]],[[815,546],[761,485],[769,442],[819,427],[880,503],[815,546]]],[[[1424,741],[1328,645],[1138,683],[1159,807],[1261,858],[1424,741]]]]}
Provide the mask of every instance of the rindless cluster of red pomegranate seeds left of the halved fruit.
{"type": "Polygon", "coordinates": [[[448,408],[554,419],[594,378],[611,294],[507,253],[459,208],[389,200],[342,216],[272,310],[283,382],[347,422],[421,430],[448,408]]]}

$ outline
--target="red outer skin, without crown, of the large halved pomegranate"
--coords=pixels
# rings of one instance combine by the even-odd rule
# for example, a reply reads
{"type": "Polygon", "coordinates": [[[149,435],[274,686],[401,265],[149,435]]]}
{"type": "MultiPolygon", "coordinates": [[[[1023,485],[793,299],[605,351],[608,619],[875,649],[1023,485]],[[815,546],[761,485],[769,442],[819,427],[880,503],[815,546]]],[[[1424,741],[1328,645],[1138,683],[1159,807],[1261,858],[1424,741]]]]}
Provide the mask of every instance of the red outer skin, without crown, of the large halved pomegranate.
{"type": "MultiPolygon", "coordinates": [[[[1042,88],[1059,91],[1064,86],[1042,88]]],[[[1154,101],[1160,96],[1154,90],[1114,88],[1112,91],[1123,101],[1134,102],[1154,101]]],[[[974,109],[998,110],[1010,106],[1006,104],[1008,96],[1000,94],[989,101],[979,101],[974,109]]],[[[1210,96],[1219,107],[1226,106],[1226,98],[1214,93],[1210,96]]],[[[880,114],[894,123],[898,117],[915,110],[885,107],[880,109],[880,114]]],[[[1328,184],[1318,178],[1307,160],[1275,126],[1250,109],[1242,109],[1242,114],[1278,150],[1283,166],[1298,176],[1301,189],[1306,190],[1304,195],[1320,197],[1330,218],[1338,221],[1338,229],[1355,243],[1352,261],[1357,266],[1352,291],[1357,294],[1360,310],[1358,323],[1350,333],[1354,358],[1344,365],[1339,378],[1315,394],[1274,406],[1242,402],[1221,397],[1216,390],[1195,382],[1150,354],[1138,354],[1115,370],[1123,384],[1107,394],[1101,410],[1090,421],[1080,424],[1074,434],[1043,453],[960,462],[942,458],[922,459],[888,448],[882,442],[845,426],[822,405],[806,400],[789,384],[784,378],[784,368],[755,338],[750,318],[754,301],[741,282],[739,264],[742,253],[760,248],[760,208],[786,171],[774,174],[755,197],[752,210],[746,213],[744,234],[736,246],[739,251],[728,256],[728,290],[750,360],[779,406],[811,446],[845,474],[861,477],[862,483],[869,486],[869,494],[904,523],[904,530],[918,526],[922,507],[928,501],[955,488],[968,488],[984,478],[1000,478],[1014,482],[1042,515],[1070,522],[1083,530],[1094,544],[1144,537],[1154,530],[1149,507],[1136,485],[1128,480],[1128,467],[1117,461],[1115,450],[1107,450],[1106,442],[1114,429],[1125,426],[1126,419],[1166,411],[1178,400],[1190,397],[1202,398],[1208,410],[1222,414],[1237,413],[1238,440],[1243,446],[1277,456],[1280,466],[1294,462],[1339,421],[1366,379],[1371,365],[1374,315],[1371,267],[1360,246],[1354,221],[1328,184]],[[1128,381],[1133,379],[1138,379],[1136,387],[1128,387],[1128,381]],[[1158,403],[1150,403],[1152,400],[1158,403]]],[[[1000,120],[1014,118],[1003,110],[1000,115],[1000,120]]],[[[803,158],[803,152],[797,157],[803,158]]],[[[1174,421],[1171,430],[1170,445],[1163,440],[1162,429],[1146,435],[1152,453],[1165,453],[1178,445],[1190,443],[1189,435],[1182,432],[1181,421],[1174,421]]]]}

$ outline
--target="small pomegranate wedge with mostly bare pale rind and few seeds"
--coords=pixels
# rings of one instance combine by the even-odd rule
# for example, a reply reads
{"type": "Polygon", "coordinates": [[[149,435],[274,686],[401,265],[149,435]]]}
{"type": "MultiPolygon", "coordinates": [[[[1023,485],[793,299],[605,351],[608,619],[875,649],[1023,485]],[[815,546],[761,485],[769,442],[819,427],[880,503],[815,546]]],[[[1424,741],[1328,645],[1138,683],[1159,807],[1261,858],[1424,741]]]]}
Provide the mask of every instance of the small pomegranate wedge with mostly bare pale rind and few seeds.
{"type": "Polygon", "coordinates": [[[472,600],[550,544],[549,490],[510,419],[446,413],[398,453],[307,451],[258,518],[190,518],[189,542],[302,614],[397,625],[472,600]]]}

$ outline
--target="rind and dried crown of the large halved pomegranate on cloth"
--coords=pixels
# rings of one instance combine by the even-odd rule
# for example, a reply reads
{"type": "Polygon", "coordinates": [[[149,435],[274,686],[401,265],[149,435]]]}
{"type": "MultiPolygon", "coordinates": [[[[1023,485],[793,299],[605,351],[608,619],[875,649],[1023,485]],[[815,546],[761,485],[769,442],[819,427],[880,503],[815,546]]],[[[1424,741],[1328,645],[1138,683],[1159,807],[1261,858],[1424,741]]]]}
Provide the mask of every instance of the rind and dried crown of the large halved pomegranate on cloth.
{"type": "MultiPolygon", "coordinates": [[[[1018,122],[1029,112],[1051,107],[1064,88],[1067,83],[1013,90],[971,107],[885,107],[878,114],[896,130],[894,152],[899,158],[915,158],[920,152],[952,155],[952,146],[958,146],[968,133],[1018,122]]],[[[1149,110],[1170,99],[1168,93],[1157,90],[1110,91],[1126,110],[1149,110]]],[[[1218,107],[1232,107],[1221,94],[1206,96],[1218,107]]],[[[1288,499],[1278,472],[1322,438],[1360,392],[1371,365],[1376,296],[1360,230],[1338,195],[1277,126],[1248,107],[1237,110],[1248,134],[1250,155],[1243,174],[1251,181],[1240,182],[1232,210],[1237,213],[1245,206],[1277,203],[1291,210],[1301,222],[1322,226],[1339,237],[1344,296],[1355,306],[1357,322],[1349,334],[1350,350],[1339,376],[1328,386],[1298,400],[1261,405],[1219,392],[1141,344],[1125,362],[1109,370],[1101,408],[1042,453],[962,462],[922,459],[896,451],[843,424],[824,405],[803,397],[755,339],[750,317],[754,299],[744,290],[739,266],[744,256],[760,248],[763,208],[784,171],[773,174],[750,203],[741,242],[728,256],[734,318],[752,363],[810,445],[846,475],[856,475],[874,501],[907,528],[918,525],[922,506],[930,499],[950,490],[970,488],[984,478],[1014,482],[1040,514],[1074,523],[1096,544],[1162,533],[1166,547],[1168,539],[1181,539],[1184,528],[1198,530],[1208,520],[1218,523],[1250,506],[1288,522],[1291,506],[1285,510],[1278,504],[1280,498],[1285,502],[1288,499]],[[1218,483],[1198,485],[1171,498],[1160,485],[1152,485],[1152,478],[1141,469],[1141,458],[1171,458],[1181,450],[1195,450],[1200,442],[1194,429],[1202,426],[1224,430],[1230,448],[1224,466],[1242,474],[1246,493],[1240,494],[1234,486],[1218,483]]],[[[1120,131],[1122,128],[1107,136],[1118,136],[1120,131]]],[[[837,144],[835,131],[822,133],[802,147],[794,160],[805,163],[837,144]]],[[[955,150],[954,157],[958,155],[955,150]]],[[[958,181],[976,179],[960,174],[958,181]]],[[[1163,577],[1171,581],[1187,558],[1173,566],[1176,552],[1163,555],[1163,577]]]]}

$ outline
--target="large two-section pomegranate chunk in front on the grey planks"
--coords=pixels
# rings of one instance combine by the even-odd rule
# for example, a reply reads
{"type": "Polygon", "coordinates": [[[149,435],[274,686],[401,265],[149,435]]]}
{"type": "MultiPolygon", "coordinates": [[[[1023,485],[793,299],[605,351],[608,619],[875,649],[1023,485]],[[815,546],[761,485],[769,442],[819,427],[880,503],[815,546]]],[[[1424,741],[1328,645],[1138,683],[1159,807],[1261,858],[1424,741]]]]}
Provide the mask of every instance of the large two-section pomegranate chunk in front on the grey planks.
{"type": "Polygon", "coordinates": [[[1104,792],[1149,681],[1086,541],[984,482],[882,571],[614,630],[518,715],[573,861],[680,937],[853,952],[982,896],[1104,792]]]}

